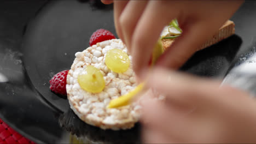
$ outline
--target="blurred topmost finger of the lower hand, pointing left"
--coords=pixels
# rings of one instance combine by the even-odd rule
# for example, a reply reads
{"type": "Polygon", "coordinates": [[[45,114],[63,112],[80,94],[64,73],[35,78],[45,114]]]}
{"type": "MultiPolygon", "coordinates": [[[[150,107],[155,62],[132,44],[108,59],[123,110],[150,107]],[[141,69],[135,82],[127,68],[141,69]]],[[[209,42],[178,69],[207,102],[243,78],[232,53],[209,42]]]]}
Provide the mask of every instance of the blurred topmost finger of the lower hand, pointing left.
{"type": "Polygon", "coordinates": [[[149,75],[148,87],[168,95],[168,99],[187,104],[204,104],[218,95],[219,82],[200,79],[176,71],[155,69],[149,75]]]}

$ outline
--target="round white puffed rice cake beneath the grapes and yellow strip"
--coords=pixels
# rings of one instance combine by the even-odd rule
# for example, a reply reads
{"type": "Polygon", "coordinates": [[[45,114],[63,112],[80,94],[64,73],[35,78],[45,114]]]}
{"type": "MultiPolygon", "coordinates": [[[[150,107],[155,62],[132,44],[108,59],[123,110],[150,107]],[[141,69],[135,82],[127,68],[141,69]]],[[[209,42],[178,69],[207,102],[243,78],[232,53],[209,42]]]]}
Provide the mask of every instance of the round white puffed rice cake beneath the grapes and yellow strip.
{"type": "Polygon", "coordinates": [[[82,121],[102,129],[130,129],[139,120],[141,106],[138,102],[119,109],[107,109],[110,100],[130,92],[137,86],[132,70],[131,56],[129,69],[115,73],[105,64],[106,53],[111,49],[121,49],[127,53],[120,39],[102,41],[75,53],[75,59],[67,75],[67,98],[71,109],[82,121]],[[87,65],[99,69],[106,86],[100,93],[86,92],[79,86],[77,77],[84,73],[87,65]]]}

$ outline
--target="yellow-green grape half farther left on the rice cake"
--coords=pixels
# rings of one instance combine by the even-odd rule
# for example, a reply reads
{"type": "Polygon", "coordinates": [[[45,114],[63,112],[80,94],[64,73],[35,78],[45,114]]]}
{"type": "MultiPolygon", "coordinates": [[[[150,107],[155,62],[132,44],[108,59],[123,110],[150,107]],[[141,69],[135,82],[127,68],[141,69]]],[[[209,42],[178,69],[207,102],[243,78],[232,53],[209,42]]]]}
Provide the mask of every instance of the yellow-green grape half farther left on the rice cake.
{"type": "Polygon", "coordinates": [[[99,93],[105,87],[105,81],[101,71],[92,65],[85,68],[86,74],[78,76],[78,83],[81,88],[91,93],[99,93]]]}

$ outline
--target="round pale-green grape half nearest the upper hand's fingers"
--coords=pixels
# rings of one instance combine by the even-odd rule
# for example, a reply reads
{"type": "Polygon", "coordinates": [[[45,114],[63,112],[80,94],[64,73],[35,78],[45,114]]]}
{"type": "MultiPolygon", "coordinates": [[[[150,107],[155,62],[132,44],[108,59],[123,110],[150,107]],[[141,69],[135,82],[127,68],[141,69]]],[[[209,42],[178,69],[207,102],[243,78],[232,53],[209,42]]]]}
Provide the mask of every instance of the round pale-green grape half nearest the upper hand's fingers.
{"type": "Polygon", "coordinates": [[[129,68],[130,59],[123,50],[112,49],[107,52],[105,63],[115,73],[124,73],[129,68]]]}

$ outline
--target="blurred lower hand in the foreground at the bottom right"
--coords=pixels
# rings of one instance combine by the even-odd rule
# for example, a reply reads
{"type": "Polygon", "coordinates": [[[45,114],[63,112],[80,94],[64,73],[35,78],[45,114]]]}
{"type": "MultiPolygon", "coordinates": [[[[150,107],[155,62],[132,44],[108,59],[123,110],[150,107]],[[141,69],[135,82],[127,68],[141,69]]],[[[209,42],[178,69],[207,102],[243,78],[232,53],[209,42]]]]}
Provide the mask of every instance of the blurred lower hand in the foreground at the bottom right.
{"type": "Polygon", "coordinates": [[[144,143],[256,143],[256,101],[218,82],[165,70],[149,87],[166,101],[143,103],[144,143]]]}

